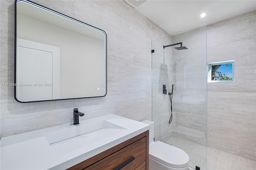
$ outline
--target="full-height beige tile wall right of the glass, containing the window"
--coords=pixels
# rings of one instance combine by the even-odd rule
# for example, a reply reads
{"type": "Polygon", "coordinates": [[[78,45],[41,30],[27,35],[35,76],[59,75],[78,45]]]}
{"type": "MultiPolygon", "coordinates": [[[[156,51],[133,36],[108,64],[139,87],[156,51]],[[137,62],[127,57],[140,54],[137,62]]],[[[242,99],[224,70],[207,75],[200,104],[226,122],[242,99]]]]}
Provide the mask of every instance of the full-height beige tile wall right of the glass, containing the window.
{"type": "Polygon", "coordinates": [[[256,160],[256,11],[207,26],[207,61],[234,59],[234,83],[207,85],[207,144],[256,160]]]}

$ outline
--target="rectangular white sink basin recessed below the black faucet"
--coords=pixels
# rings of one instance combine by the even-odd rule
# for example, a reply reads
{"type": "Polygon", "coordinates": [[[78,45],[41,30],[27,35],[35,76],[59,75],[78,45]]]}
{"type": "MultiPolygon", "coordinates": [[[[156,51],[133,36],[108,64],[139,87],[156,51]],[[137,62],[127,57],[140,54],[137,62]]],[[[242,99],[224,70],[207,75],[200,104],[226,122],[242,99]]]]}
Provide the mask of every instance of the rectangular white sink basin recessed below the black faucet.
{"type": "Polygon", "coordinates": [[[105,134],[108,132],[114,132],[115,134],[117,131],[122,131],[124,129],[126,128],[120,127],[106,120],[100,120],[92,123],[70,125],[70,127],[68,128],[46,133],[44,134],[44,136],[46,137],[48,143],[51,145],[51,144],[56,144],[58,142],[65,142],[65,140],[86,138],[88,137],[88,135],[90,136],[90,134],[96,133],[100,130],[104,130],[105,134]]]}

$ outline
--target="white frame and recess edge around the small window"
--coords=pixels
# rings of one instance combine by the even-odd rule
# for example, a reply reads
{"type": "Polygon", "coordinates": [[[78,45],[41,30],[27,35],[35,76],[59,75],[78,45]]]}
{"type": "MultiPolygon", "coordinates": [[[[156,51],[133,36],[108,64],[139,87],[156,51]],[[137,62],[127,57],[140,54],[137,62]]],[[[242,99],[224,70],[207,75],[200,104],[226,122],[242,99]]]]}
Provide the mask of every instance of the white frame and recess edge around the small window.
{"type": "Polygon", "coordinates": [[[235,81],[235,75],[234,75],[234,65],[235,60],[224,60],[224,61],[214,61],[214,62],[208,62],[207,63],[207,82],[208,83],[220,83],[220,82],[234,82],[235,81]],[[232,80],[212,80],[212,65],[222,65],[222,64],[228,64],[232,63],[232,80]]]}

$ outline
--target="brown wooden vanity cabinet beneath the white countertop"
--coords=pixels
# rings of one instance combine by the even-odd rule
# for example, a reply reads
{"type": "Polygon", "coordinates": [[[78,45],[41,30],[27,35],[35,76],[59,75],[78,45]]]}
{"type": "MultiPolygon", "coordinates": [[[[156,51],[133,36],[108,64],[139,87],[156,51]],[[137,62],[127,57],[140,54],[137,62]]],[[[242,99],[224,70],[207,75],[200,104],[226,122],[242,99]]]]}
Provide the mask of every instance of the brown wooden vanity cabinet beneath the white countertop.
{"type": "Polygon", "coordinates": [[[148,130],[126,140],[68,170],[148,170],[148,130]]]}

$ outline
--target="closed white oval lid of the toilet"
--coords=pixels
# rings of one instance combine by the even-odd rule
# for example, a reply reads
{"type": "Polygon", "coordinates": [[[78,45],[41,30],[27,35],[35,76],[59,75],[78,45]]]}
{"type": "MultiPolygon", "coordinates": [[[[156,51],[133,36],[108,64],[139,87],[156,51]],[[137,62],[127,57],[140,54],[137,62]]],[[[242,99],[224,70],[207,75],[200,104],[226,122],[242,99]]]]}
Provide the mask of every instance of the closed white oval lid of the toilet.
{"type": "Polygon", "coordinates": [[[149,157],[172,168],[184,168],[189,161],[184,150],[160,141],[150,144],[149,157]]]}

